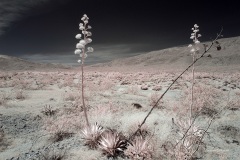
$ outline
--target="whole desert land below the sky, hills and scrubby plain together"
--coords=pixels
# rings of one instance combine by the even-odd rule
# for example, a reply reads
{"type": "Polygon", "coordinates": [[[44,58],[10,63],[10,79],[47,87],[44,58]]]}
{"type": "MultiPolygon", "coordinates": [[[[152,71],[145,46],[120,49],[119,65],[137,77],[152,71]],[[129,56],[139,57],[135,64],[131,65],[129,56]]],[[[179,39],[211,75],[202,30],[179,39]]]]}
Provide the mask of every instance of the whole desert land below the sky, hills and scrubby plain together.
{"type": "Polygon", "coordinates": [[[156,103],[192,63],[187,45],[86,66],[85,103],[99,134],[90,139],[80,67],[1,55],[0,159],[239,159],[240,37],[219,43],[195,64],[192,124],[191,69],[156,103]],[[104,148],[108,133],[116,148],[104,148]]]}

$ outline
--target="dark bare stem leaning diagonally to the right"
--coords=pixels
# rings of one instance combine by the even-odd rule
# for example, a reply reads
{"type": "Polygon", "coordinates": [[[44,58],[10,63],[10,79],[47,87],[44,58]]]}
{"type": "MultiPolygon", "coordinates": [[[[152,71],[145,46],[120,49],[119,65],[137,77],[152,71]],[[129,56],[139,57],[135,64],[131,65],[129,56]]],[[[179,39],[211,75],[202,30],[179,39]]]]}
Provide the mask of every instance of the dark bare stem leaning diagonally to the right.
{"type": "Polygon", "coordinates": [[[209,48],[207,48],[200,57],[196,58],[182,73],[179,74],[179,76],[177,76],[174,81],[169,85],[169,87],[163,92],[163,94],[159,97],[159,99],[156,101],[156,103],[153,105],[153,107],[150,109],[150,111],[147,113],[146,117],[144,118],[144,120],[142,121],[142,123],[138,126],[138,129],[129,137],[132,138],[133,136],[135,136],[137,134],[137,132],[139,132],[141,130],[142,125],[146,122],[147,118],[150,116],[150,114],[152,113],[153,109],[158,105],[158,103],[160,102],[160,100],[164,97],[164,95],[169,91],[169,89],[173,86],[173,84],[176,83],[176,81],[190,68],[192,67],[199,59],[201,59],[214,45],[214,42],[221,36],[223,31],[223,28],[221,29],[220,33],[217,34],[217,37],[212,41],[211,45],[209,46],[209,48]]]}

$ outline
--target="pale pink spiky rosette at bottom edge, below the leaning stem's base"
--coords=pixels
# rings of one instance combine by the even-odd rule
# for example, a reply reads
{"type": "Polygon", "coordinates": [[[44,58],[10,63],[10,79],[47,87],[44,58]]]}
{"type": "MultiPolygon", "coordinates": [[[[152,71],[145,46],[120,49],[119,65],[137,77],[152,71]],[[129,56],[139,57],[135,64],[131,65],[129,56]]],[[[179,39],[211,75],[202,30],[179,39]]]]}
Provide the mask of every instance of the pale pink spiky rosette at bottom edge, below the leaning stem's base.
{"type": "Polygon", "coordinates": [[[153,147],[149,144],[149,140],[136,137],[124,153],[133,160],[152,159],[153,147]]]}

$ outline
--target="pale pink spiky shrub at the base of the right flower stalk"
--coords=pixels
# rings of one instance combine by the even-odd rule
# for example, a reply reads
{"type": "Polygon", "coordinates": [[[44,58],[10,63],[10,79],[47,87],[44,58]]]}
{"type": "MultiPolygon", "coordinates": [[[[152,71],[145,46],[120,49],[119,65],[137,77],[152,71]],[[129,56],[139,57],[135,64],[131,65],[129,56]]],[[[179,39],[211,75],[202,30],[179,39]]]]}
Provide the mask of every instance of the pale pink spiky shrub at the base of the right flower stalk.
{"type": "Polygon", "coordinates": [[[176,160],[202,158],[206,150],[202,140],[205,130],[192,124],[189,118],[178,119],[176,125],[177,135],[172,135],[171,140],[164,144],[165,156],[176,160]]]}

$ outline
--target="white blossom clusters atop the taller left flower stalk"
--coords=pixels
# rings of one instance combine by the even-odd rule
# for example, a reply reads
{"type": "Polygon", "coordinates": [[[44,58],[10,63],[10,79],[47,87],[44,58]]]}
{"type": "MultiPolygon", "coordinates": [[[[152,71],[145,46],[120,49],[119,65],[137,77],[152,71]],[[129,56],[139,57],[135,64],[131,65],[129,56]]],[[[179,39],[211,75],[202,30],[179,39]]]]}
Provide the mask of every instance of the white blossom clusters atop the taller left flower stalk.
{"type": "Polygon", "coordinates": [[[88,25],[88,16],[86,14],[83,15],[83,17],[81,18],[81,20],[83,21],[83,23],[79,24],[79,29],[82,31],[82,34],[77,34],[76,35],[76,39],[79,39],[79,42],[76,45],[76,50],[75,50],[75,54],[79,54],[79,56],[81,57],[82,60],[78,60],[78,63],[80,62],[84,62],[84,59],[87,58],[87,53],[88,52],[93,52],[93,48],[92,47],[88,47],[87,51],[85,50],[85,46],[88,43],[92,42],[92,39],[90,38],[92,36],[92,33],[89,31],[89,29],[91,29],[92,27],[90,25],[88,25]],[[83,35],[83,36],[82,36],[83,35]]]}

